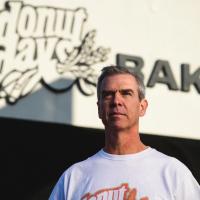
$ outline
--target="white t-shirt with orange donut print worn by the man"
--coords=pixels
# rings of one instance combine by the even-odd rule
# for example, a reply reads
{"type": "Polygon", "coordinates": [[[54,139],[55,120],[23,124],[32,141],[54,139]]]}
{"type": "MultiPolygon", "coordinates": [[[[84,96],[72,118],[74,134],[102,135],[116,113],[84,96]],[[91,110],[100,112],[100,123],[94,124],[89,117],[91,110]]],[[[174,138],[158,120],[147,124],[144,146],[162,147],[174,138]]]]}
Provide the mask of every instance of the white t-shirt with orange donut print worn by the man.
{"type": "Polygon", "coordinates": [[[137,200],[200,200],[200,186],[190,170],[151,147],[127,155],[100,150],[68,168],[49,200],[124,200],[132,188],[137,200]]]}

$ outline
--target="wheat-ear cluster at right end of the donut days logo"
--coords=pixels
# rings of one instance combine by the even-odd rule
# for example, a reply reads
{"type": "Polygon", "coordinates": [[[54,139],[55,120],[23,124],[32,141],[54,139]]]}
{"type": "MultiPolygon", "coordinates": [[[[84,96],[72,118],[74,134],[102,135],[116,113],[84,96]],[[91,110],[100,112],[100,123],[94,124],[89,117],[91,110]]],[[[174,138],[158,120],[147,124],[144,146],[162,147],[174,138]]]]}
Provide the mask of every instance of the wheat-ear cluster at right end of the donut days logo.
{"type": "Polygon", "coordinates": [[[72,84],[76,82],[84,95],[93,95],[94,91],[91,85],[96,86],[97,75],[90,66],[106,61],[110,51],[110,49],[103,47],[94,49],[95,36],[95,30],[88,32],[82,44],[73,49],[68,59],[64,63],[57,65],[58,73],[73,74],[75,80],[72,84]]]}

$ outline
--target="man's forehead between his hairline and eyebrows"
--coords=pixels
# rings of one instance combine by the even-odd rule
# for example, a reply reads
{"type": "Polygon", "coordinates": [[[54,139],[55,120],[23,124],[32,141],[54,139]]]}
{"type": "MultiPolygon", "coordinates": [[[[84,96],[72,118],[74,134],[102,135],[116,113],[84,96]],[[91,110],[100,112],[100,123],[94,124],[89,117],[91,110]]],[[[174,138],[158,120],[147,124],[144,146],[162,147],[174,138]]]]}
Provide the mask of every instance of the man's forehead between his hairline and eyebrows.
{"type": "Polygon", "coordinates": [[[101,89],[111,90],[111,89],[137,89],[138,84],[135,79],[130,74],[115,74],[107,76],[103,79],[101,84],[101,89]]]}

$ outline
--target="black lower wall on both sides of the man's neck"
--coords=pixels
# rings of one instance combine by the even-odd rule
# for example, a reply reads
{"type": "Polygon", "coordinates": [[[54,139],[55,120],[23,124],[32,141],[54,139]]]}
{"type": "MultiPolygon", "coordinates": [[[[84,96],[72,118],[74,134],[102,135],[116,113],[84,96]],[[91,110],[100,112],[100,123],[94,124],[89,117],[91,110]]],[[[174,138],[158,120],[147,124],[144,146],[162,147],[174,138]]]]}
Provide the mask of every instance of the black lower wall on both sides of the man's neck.
{"type": "MultiPolygon", "coordinates": [[[[96,153],[103,130],[0,118],[4,199],[44,200],[62,172],[96,153]]],[[[185,163],[200,183],[200,140],[141,134],[143,142],[185,163]]]]}

